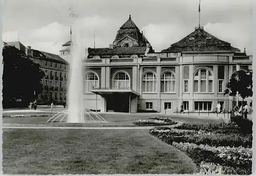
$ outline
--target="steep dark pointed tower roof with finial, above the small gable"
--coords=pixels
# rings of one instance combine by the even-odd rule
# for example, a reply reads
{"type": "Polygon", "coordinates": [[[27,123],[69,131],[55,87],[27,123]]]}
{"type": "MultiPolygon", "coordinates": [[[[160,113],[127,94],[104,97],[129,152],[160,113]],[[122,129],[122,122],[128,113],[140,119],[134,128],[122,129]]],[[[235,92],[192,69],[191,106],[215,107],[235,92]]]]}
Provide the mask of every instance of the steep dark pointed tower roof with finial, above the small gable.
{"type": "Polygon", "coordinates": [[[116,46],[118,41],[120,41],[121,39],[123,39],[126,36],[130,36],[130,37],[136,39],[136,41],[139,44],[139,47],[146,47],[146,43],[150,43],[147,41],[145,36],[140,32],[139,28],[135,25],[135,23],[133,22],[133,20],[131,18],[131,15],[130,15],[129,19],[117,31],[116,38],[113,42],[114,46],[116,46]]]}

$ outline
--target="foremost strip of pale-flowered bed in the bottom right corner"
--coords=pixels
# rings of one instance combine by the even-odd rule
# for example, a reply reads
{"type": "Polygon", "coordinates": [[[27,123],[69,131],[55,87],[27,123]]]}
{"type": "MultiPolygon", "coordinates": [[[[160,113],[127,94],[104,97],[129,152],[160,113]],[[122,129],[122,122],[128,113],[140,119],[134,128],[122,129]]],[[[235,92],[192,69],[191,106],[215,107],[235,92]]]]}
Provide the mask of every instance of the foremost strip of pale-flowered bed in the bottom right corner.
{"type": "MultiPolygon", "coordinates": [[[[252,149],[244,147],[210,147],[208,145],[197,145],[194,143],[177,143],[173,146],[186,152],[194,160],[202,171],[202,162],[211,163],[220,167],[232,168],[229,174],[250,174],[252,167],[252,149]]],[[[218,167],[219,168],[219,167],[218,167]]],[[[216,171],[216,166],[203,167],[204,172],[212,169],[216,171]],[[206,170],[205,170],[206,169],[206,170]]],[[[228,170],[224,173],[228,173],[228,170]]]]}

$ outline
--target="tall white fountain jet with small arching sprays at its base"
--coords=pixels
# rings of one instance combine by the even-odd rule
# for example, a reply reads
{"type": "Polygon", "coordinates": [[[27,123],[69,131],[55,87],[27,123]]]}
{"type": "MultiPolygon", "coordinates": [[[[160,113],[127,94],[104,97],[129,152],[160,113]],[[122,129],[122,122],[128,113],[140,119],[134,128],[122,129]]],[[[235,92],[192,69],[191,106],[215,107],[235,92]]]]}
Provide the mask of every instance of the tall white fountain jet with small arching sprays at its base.
{"type": "Polygon", "coordinates": [[[99,114],[84,109],[83,107],[83,59],[86,57],[84,47],[80,41],[79,32],[76,32],[75,40],[72,41],[72,59],[69,72],[68,110],[55,114],[47,122],[67,123],[106,123],[99,114]]]}

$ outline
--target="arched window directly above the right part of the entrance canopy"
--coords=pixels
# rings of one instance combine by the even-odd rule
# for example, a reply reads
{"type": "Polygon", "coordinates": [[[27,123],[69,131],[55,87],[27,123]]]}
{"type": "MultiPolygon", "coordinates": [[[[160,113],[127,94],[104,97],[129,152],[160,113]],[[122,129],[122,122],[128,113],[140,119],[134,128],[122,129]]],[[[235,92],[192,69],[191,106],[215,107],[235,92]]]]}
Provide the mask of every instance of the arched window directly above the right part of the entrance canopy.
{"type": "Polygon", "coordinates": [[[119,72],[114,77],[113,89],[130,89],[130,78],[124,72],[119,72]]]}

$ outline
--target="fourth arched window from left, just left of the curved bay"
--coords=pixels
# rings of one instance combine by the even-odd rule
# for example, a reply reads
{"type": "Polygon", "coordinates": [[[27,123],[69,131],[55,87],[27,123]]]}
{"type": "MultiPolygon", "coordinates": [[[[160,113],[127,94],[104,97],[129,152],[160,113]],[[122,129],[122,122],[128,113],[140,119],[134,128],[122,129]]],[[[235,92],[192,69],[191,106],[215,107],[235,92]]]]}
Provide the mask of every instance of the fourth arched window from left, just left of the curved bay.
{"type": "Polygon", "coordinates": [[[172,72],[166,72],[161,76],[161,92],[175,92],[175,76],[172,72]]]}

